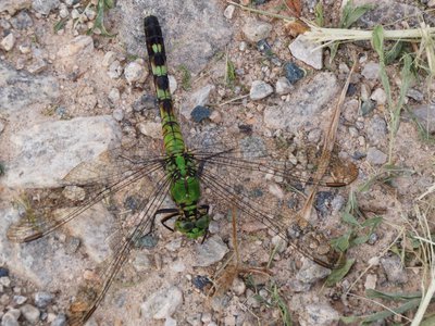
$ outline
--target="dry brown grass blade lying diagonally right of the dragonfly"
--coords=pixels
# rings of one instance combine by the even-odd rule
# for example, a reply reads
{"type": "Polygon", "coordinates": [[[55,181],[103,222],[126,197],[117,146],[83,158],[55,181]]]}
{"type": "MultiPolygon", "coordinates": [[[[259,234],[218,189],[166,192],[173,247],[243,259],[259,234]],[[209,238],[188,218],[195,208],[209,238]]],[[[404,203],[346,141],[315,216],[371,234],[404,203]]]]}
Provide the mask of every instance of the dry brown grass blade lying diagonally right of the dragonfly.
{"type": "Polygon", "coordinates": [[[311,192],[308,196],[302,210],[299,212],[299,217],[303,218],[306,221],[309,221],[309,217],[311,214],[311,209],[313,206],[314,197],[315,197],[315,193],[318,192],[320,180],[322,179],[323,175],[326,173],[327,167],[330,166],[331,155],[332,155],[332,151],[334,149],[335,138],[336,138],[337,128],[338,128],[339,116],[341,113],[341,106],[343,106],[343,103],[346,98],[347,89],[349,87],[350,77],[353,74],[357,65],[358,65],[358,60],[357,60],[356,55],[353,55],[352,68],[349,73],[349,76],[347,77],[345,86],[341,89],[340,97],[339,97],[338,102],[334,110],[334,116],[333,116],[333,118],[331,121],[331,125],[327,129],[325,142],[324,142],[323,149],[322,149],[322,154],[321,154],[321,158],[319,161],[319,168],[314,175],[314,180],[313,180],[314,186],[311,189],[311,192]]]}

